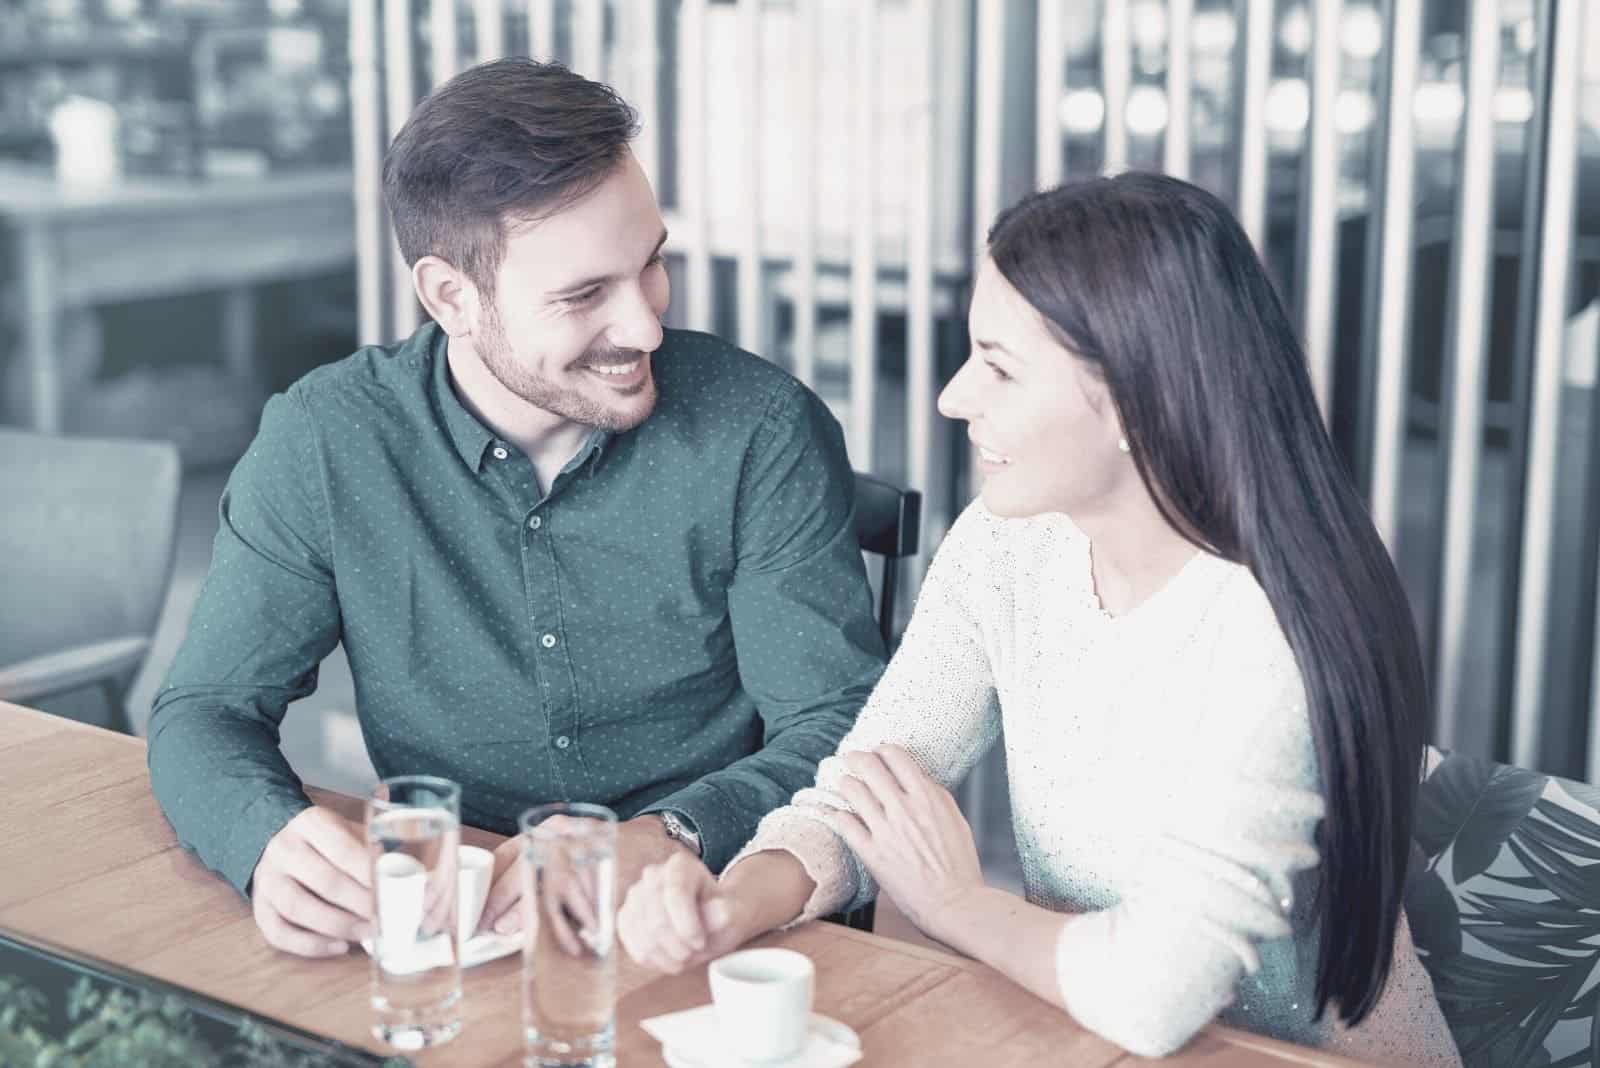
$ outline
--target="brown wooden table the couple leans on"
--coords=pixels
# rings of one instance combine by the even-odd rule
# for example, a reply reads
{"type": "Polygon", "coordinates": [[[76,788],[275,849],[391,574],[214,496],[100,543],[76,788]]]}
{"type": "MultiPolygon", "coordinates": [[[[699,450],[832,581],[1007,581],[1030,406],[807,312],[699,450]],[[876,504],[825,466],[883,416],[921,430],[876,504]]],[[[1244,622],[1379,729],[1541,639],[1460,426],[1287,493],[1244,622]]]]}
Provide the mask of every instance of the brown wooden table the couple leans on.
{"type": "MultiPolygon", "coordinates": [[[[368,1036],[366,959],[304,961],[258,935],[250,907],[176,843],[150,795],[144,743],[0,702],[0,929],[198,990],[253,1012],[381,1049],[368,1036]]],[[[355,812],[352,798],[317,795],[355,812]]],[[[469,830],[464,838],[493,844],[469,830]]],[[[973,961],[891,938],[810,924],[763,945],[806,953],[818,1010],[853,1026],[861,1063],[1146,1063],[973,961]]],[[[517,956],[466,972],[466,1028],[419,1065],[520,1065],[517,956]]],[[[706,970],[661,977],[622,954],[618,1062],[661,1065],[638,1022],[709,1001],[706,970]]],[[[1274,1068],[1357,1062],[1206,1028],[1178,1066],[1274,1068]]]]}

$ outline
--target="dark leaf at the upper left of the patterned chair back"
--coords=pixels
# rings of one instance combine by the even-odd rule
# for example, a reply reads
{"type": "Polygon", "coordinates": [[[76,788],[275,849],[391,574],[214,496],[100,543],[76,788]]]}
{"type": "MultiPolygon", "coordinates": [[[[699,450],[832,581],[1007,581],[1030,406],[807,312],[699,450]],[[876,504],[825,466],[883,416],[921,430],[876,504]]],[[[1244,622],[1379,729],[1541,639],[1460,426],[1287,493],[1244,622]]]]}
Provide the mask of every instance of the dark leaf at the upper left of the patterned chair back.
{"type": "Polygon", "coordinates": [[[1544,783],[1531,771],[1451,753],[1418,790],[1416,839],[1429,859],[1454,846],[1451,871],[1466,883],[1494,862],[1544,783]]]}

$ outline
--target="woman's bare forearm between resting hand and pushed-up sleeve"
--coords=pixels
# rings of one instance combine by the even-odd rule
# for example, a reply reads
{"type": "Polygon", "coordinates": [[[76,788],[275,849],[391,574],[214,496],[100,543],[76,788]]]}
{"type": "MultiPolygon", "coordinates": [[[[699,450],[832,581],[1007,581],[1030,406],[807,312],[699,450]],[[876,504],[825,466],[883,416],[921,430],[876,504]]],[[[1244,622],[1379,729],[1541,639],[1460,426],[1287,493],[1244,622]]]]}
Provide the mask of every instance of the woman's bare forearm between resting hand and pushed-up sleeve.
{"type": "Polygon", "coordinates": [[[992,886],[974,889],[928,934],[957,953],[982,961],[1013,983],[1061,1006],[1056,942],[1074,916],[1054,913],[992,886]]]}

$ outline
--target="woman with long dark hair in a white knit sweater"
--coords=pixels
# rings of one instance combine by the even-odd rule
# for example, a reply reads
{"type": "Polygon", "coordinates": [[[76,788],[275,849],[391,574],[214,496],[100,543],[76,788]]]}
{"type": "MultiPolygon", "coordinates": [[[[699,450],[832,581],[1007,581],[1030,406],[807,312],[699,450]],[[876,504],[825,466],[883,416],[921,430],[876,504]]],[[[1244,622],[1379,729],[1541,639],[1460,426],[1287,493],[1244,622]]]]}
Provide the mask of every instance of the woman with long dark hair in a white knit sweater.
{"type": "Polygon", "coordinates": [[[1411,616],[1243,230],[1165,176],[1032,195],[970,333],[939,411],[982,496],[899,652],[720,883],[646,873],[624,945],[678,970],[882,887],[1136,1054],[1221,1014],[1458,1065],[1400,908],[1411,616]],[[1002,724],[1026,902],[982,886],[949,795],[1002,724]]]}

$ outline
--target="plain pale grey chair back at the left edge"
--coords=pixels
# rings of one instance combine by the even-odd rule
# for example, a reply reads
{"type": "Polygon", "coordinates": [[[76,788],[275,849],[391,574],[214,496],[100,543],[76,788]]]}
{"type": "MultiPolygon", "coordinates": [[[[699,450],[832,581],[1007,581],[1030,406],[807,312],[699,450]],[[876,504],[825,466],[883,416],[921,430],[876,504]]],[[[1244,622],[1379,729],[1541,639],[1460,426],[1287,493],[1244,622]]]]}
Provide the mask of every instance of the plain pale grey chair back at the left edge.
{"type": "Polygon", "coordinates": [[[166,600],[178,489],[170,443],[0,428],[0,699],[131,683],[166,600]]]}

